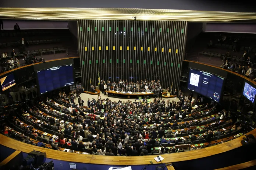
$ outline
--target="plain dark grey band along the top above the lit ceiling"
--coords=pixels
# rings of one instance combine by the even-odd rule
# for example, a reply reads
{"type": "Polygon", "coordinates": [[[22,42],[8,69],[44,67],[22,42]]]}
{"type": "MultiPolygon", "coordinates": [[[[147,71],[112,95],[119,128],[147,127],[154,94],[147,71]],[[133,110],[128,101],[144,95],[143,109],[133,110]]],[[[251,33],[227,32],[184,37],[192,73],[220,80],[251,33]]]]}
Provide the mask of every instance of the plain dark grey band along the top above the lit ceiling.
{"type": "Polygon", "coordinates": [[[66,7],[66,8],[143,8],[143,9],[172,9],[172,10],[196,10],[196,11],[228,11],[228,12],[256,12],[256,8],[250,1],[232,1],[232,3],[221,0],[62,0],[60,1],[0,1],[3,8],[35,8],[35,7],[66,7]]]}

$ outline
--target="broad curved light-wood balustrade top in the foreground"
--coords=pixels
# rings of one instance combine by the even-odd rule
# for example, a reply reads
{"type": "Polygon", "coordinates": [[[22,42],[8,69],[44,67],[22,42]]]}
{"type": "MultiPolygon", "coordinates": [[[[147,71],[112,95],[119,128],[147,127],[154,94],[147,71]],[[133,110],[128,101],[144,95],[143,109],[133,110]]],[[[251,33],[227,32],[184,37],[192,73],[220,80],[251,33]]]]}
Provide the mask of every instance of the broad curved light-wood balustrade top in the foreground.
{"type": "MultiPolygon", "coordinates": [[[[256,136],[256,129],[252,130],[248,134],[253,134],[254,136],[256,136]]],[[[243,135],[234,140],[231,140],[219,145],[214,145],[214,146],[203,148],[203,149],[197,149],[194,151],[180,152],[175,154],[165,154],[163,155],[164,160],[162,161],[162,163],[173,163],[173,162],[179,162],[184,160],[204,158],[207,156],[227,152],[232,149],[241,147],[242,144],[240,141],[242,140],[242,137],[245,137],[245,136],[243,135]]],[[[157,163],[156,161],[154,161],[154,157],[156,157],[156,155],[100,156],[100,155],[75,154],[70,152],[61,152],[53,149],[33,146],[30,144],[26,144],[26,143],[14,140],[2,134],[0,134],[0,144],[21,152],[25,152],[25,153],[29,153],[33,151],[33,149],[36,151],[46,152],[47,158],[63,160],[68,162],[70,162],[70,158],[72,157],[72,162],[92,163],[92,164],[100,164],[100,165],[148,165],[150,164],[149,163],[150,160],[152,160],[154,164],[157,163]]]]}

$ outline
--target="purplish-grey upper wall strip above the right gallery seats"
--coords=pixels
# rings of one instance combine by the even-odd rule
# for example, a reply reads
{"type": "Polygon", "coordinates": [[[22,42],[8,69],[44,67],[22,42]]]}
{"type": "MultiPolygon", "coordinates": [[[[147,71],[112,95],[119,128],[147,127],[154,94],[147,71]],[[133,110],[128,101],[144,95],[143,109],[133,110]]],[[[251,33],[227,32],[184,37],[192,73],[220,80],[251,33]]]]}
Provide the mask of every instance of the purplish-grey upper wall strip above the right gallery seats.
{"type": "Polygon", "coordinates": [[[205,31],[256,33],[256,23],[207,23],[205,31]]]}

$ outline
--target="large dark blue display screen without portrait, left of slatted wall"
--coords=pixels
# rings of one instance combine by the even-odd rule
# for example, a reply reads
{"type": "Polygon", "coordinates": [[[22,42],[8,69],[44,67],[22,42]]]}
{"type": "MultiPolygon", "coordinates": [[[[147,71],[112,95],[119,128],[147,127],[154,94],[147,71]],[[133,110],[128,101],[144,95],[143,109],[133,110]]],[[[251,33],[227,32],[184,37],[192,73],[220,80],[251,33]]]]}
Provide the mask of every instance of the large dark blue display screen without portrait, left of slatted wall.
{"type": "Polygon", "coordinates": [[[37,71],[39,92],[41,94],[74,84],[73,64],[56,66],[37,71]]]}

